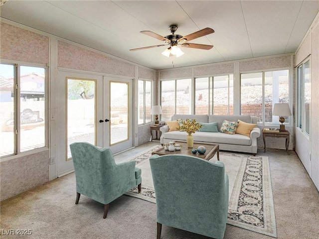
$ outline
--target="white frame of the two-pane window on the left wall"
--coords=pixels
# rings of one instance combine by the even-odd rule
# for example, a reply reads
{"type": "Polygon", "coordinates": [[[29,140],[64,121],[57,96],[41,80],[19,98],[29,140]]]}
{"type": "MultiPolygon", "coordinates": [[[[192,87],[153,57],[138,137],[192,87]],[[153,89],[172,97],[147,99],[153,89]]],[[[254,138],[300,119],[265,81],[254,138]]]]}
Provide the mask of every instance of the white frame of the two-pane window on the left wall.
{"type": "Polygon", "coordinates": [[[49,124],[49,94],[48,94],[48,65],[47,64],[39,64],[39,63],[30,63],[30,62],[21,62],[21,61],[13,61],[13,60],[3,60],[0,59],[0,64],[6,65],[13,65],[14,67],[14,74],[13,74],[13,119],[14,119],[14,126],[13,132],[14,135],[14,149],[12,154],[7,154],[0,156],[0,162],[4,162],[10,159],[19,158],[21,156],[27,156],[34,153],[47,151],[49,149],[49,139],[48,139],[48,124],[49,124]],[[39,148],[34,148],[30,150],[26,150],[21,152],[20,145],[21,145],[21,129],[20,129],[20,117],[21,117],[21,102],[20,102],[20,95],[21,95],[21,84],[20,84],[20,67],[38,67],[44,68],[44,146],[39,148]],[[17,87],[16,87],[17,86],[17,87]]]}

